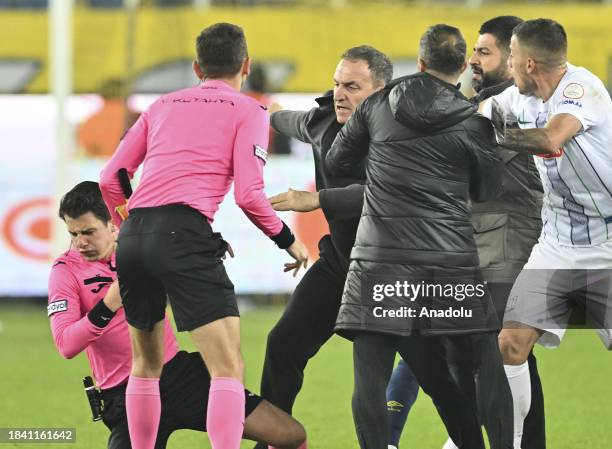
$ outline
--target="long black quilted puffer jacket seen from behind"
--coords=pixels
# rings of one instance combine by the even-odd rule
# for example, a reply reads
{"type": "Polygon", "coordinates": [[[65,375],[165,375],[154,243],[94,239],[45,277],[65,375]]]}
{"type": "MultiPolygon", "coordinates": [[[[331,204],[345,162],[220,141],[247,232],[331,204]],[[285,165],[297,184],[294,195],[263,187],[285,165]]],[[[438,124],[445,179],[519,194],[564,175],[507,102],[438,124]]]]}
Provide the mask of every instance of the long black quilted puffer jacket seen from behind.
{"type": "MultiPolygon", "coordinates": [[[[501,192],[496,146],[493,127],[477,107],[426,73],[396,80],[357,108],[326,157],[328,172],[337,176],[366,160],[364,206],[338,331],[409,335],[414,329],[465,333],[497,326],[488,292],[470,301],[474,318],[466,327],[455,319],[374,317],[382,303],[371,291],[376,283],[396,281],[482,282],[470,198],[487,201],[501,192]]],[[[436,301],[429,306],[449,304],[448,298],[436,301]]],[[[384,305],[414,304],[396,295],[384,305]]]]}

